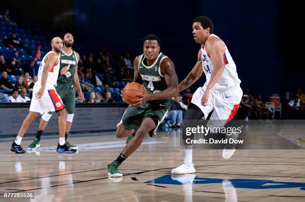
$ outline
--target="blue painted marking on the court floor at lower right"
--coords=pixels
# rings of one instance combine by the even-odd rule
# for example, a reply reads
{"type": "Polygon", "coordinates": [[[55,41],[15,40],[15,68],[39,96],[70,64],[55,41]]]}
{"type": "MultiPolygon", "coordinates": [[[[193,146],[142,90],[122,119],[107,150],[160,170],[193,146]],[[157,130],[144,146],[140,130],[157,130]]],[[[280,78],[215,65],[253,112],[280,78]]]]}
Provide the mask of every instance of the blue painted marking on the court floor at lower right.
{"type": "Polygon", "coordinates": [[[257,180],[257,179],[219,179],[219,178],[200,178],[195,177],[193,181],[187,180],[190,176],[170,176],[164,175],[145,183],[167,184],[167,185],[183,185],[183,184],[217,184],[223,182],[231,182],[234,188],[245,189],[282,189],[282,188],[300,188],[305,191],[305,183],[283,182],[273,180],[257,180]],[[176,180],[179,179],[179,180],[176,180]]]}

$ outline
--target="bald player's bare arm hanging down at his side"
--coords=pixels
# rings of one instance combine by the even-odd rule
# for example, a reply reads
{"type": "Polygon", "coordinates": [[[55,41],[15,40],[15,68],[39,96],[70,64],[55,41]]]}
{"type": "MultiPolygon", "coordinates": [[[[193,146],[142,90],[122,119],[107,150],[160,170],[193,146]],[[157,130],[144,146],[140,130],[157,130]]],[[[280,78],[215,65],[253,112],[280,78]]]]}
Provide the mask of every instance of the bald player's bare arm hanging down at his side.
{"type": "Polygon", "coordinates": [[[42,95],[44,93],[44,89],[45,89],[45,83],[48,78],[48,72],[51,70],[51,68],[54,65],[57,65],[57,63],[58,63],[58,56],[56,54],[49,54],[47,56],[47,58],[45,59],[45,66],[43,68],[42,75],[41,75],[41,87],[38,90],[38,92],[35,94],[36,99],[42,97],[42,95]]]}

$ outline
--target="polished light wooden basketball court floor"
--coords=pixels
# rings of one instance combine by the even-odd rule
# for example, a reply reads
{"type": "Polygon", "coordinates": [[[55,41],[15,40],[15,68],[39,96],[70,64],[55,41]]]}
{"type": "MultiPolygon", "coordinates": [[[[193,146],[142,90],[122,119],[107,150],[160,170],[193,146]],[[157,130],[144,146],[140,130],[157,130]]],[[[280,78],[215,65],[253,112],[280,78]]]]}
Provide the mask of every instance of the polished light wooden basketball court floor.
{"type": "MultiPolygon", "coordinates": [[[[172,176],[183,153],[180,131],[158,132],[121,166],[123,178],[108,178],[107,164],[125,146],[114,133],[70,135],[78,153],[55,151],[58,137],[42,136],[36,152],[15,154],[14,137],[0,138],[0,201],[37,202],[304,202],[305,151],[194,150],[195,174],[172,176]],[[33,193],[34,199],[4,198],[33,193]],[[7,196],[7,194],[6,194],[7,196]]],[[[302,138],[303,130],[292,138],[302,138]]],[[[305,135],[304,135],[305,136],[305,135]]],[[[303,137],[304,137],[303,136],[303,137]]],[[[27,147],[33,136],[22,139],[27,147]]],[[[296,142],[305,147],[305,143],[296,142]]]]}

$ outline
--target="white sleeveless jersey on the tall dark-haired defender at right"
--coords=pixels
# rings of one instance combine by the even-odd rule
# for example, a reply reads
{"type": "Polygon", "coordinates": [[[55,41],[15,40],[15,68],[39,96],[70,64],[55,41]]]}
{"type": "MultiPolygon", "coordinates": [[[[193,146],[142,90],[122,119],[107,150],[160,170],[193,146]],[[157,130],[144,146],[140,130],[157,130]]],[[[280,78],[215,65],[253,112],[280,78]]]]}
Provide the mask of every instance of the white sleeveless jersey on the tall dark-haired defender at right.
{"type": "MultiPolygon", "coordinates": [[[[211,34],[209,37],[216,37],[216,38],[220,39],[215,34],[211,34]]],[[[224,43],[224,45],[225,45],[225,43],[224,43]]],[[[225,64],[225,68],[224,68],[224,71],[222,73],[220,80],[214,85],[213,89],[225,90],[225,89],[228,89],[228,88],[231,88],[234,86],[239,86],[239,84],[241,82],[237,75],[235,63],[234,63],[226,45],[225,45],[225,48],[226,48],[226,51],[223,55],[223,62],[225,64]]],[[[203,72],[206,76],[206,82],[204,84],[204,86],[206,87],[210,81],[214,66],[212,64],[211,58],[206,53],[206,50],[204,49],[204,47],[201,48],[201,61],[202,61],[203,72]]]]}

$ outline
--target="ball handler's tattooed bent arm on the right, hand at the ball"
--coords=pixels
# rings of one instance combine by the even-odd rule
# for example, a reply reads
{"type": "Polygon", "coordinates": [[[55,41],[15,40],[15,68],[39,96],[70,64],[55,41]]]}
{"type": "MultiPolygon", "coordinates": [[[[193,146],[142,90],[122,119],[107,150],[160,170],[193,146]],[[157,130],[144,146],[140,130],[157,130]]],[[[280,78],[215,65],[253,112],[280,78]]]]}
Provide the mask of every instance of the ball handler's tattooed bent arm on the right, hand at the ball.
{"type": "Polygon", "coordinates": [[[173,62],[169,58],[165,58],[160,64],[161,73],[164,75],[167,88],[159,93],[150,94],[146,91],[144,94],[138,94],[140,99],[134,100],[135,106],[140,106],[149,100],[164,100],[176,96],[179,93],[178,77],[175,72],[173,62]]]}

